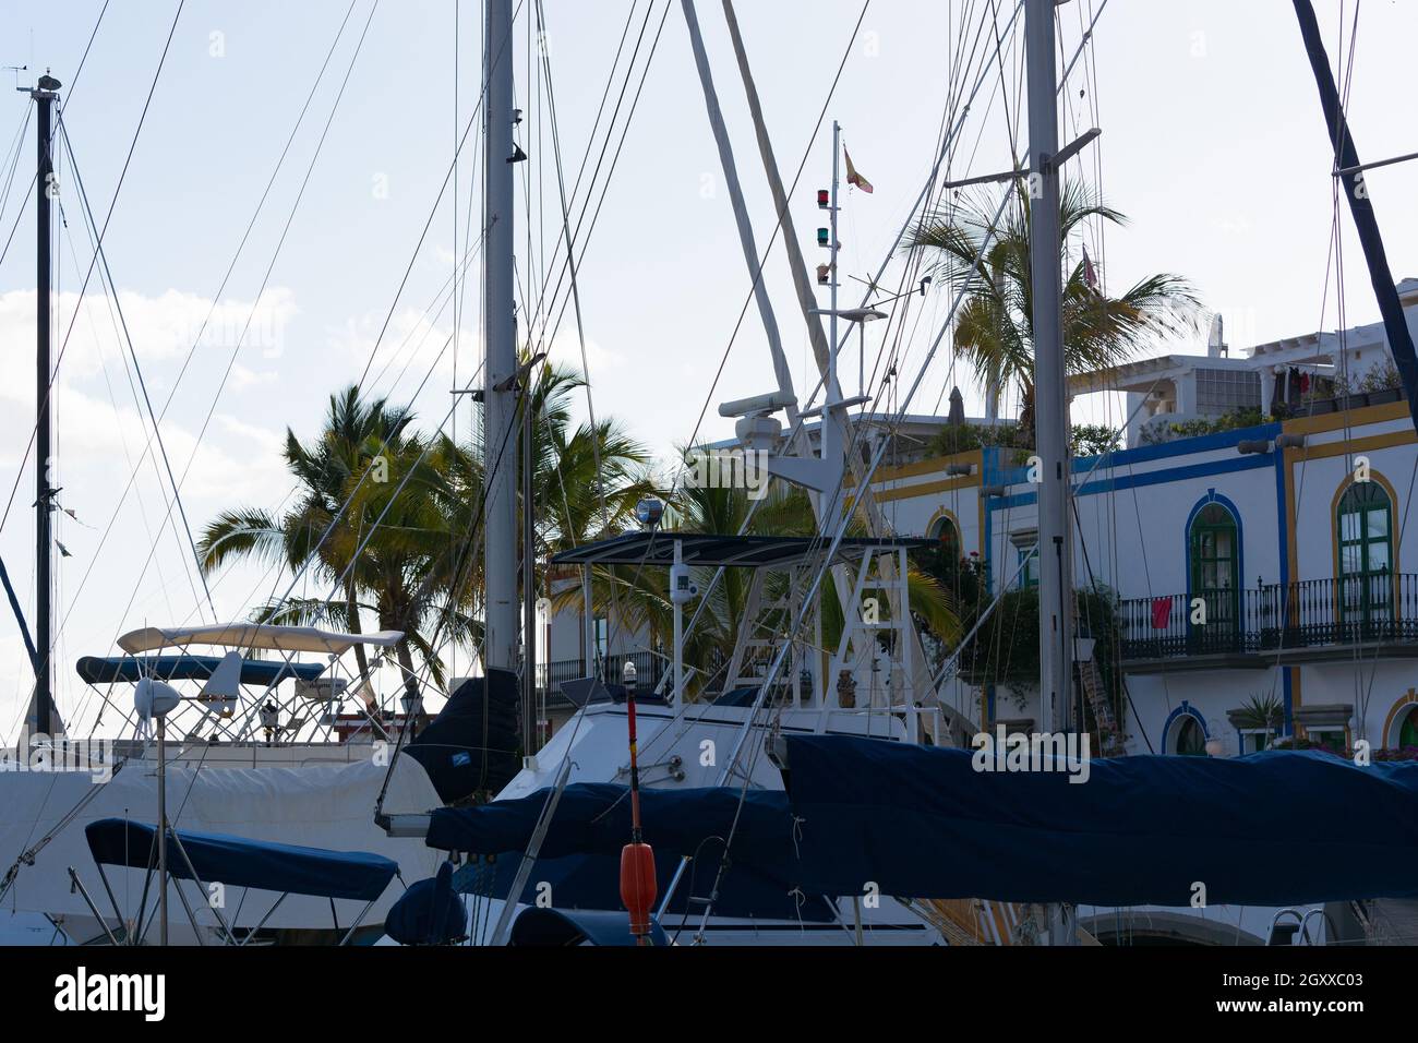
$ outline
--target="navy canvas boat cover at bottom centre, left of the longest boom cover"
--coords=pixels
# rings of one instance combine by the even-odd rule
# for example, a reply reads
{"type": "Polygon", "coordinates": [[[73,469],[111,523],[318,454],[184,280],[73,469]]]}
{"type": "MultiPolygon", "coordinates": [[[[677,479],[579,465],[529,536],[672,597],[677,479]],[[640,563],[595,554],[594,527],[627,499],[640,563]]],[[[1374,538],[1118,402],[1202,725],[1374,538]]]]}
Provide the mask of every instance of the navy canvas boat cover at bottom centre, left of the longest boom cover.
{"type": "MultiPolygon", "coordinates": [[[[492,867],[465,870],[462,890],[505,897],[520,864],[518,856],[530,843],[547,793],[543,789],[476,807],[440,807],[430,822],[428,846],[502,856],[492,867]]],[[[547,883],[560,908],[620,908],[620,853],[630,840],[628,795],[627,786],[613,783],[567,786],[542,840],[522,901],[535,901],[536,885],[547,883]]],[[[700,908],[689,907],[688,898],[709,893],[723,857],[723,839],[732,834],[729,868],[715,904],[719,915],[807,922],[834,917],[821,895],[803,894],[795,885],[798,863],[786,793],[761,789],[743,793],[737,788],[642,789],[640,807],[645,841],[655,850],[661,895],[681,857],[695,860],[676,887],[666,915],[700,908]]]]}

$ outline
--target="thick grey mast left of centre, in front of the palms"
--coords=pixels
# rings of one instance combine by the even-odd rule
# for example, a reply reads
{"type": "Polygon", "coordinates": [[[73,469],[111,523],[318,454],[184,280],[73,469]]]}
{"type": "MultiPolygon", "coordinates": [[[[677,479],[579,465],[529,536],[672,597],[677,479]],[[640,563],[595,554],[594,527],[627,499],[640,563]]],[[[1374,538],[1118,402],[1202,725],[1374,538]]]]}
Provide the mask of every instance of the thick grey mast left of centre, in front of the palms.
{"type": "Polygon", "coordinates": [[[518,646],[518,326],[513,272],[512,0],[488,0],[484,254],[484,667],[515,670],[518,646]]]}

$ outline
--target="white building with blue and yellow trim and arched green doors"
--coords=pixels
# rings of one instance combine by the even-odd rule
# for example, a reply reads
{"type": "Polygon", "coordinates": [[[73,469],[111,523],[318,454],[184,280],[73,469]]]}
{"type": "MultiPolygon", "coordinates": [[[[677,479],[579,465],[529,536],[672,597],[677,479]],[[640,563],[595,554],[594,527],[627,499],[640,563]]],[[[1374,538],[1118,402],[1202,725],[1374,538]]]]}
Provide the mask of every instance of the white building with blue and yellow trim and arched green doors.
{"type": "MultiPolygon", "coordinates": [[[[1400,292],[1418,326],[1418,281],[1400,292]]],[[[1388,359],[1373,325],[1073,382],[1075,394],[1126,392],[1150,421],[1130,427],[1127,448],[1072,467],[1075,585],[1098,582],[1119,599],[1127,752],[1263,748],[1275,735],[1252,729],[1244,710],[1266,698],[1280,707],[1282,736],[1418,746],[1408,403],[1395,389],[1314,397],[1336,375],[1363,386],[1388,359]],[[1296,373],[1307,377],[1303,396],[1296,373]],[[1171,429],[1246,407],[1292,419],[1191,437],[1171,429]]],[[[900,532],[957,542],[998,590],[1035,576],[1037,498],[1024,463],[1017,450],[984,448],[892,468],[875,485],[900,532]]],[[[956,698],[983,728],[1046,727],[1028,685],[961,684],[956,698]]]]}

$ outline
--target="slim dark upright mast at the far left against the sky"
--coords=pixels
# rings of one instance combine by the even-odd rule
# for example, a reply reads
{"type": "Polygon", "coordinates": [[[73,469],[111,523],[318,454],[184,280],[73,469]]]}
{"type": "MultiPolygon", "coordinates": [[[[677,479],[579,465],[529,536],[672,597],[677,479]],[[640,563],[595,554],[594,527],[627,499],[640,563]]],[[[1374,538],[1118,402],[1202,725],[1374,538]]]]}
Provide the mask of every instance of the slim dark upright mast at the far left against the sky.
{"type": "Polygon", "coordinates": [[[30,708],[30,735],[50,734],[50,708],[54,698],[54,666],[51,650],[54,637],[50,633],[52,610],[50,590],[52,587],[54,536],[50,531],[54,509],[54,490],[50,487],[50,241],[52,219],[50,202],[57,190],[54,184],[54,104],[58,101],[60,81],[45,74],[38,87],[30,92],[35,102],[40,156],[38,175],[34,180],[34,203],[37,216],[35,238],[35,356],[34,356],[34,637],[35,671],[34,700],[30,708]]]}

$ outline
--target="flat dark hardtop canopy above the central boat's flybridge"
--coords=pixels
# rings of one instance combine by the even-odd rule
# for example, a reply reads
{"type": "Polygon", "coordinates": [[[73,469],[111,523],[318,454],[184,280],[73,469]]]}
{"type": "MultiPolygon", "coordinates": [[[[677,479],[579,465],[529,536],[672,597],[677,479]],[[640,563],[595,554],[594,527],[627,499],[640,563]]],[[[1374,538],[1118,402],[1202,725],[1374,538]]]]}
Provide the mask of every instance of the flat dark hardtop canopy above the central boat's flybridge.
{"type": "MultiPolygon", "coordinates": [[[[586,543],[552,558],[554,565],[672,565],[675,543],[683,545],[685,565],[720,565],[747,569],[783,568],[814,561],[831,539],[822,536],[718,536],[705,532],[627,532],[614,539],[586,543]]],[[[837,561],[855,561],[868,551],[915,551],[939,546],[919,536],[878,539],[847,536],[837,546],[837,561]]]]}

